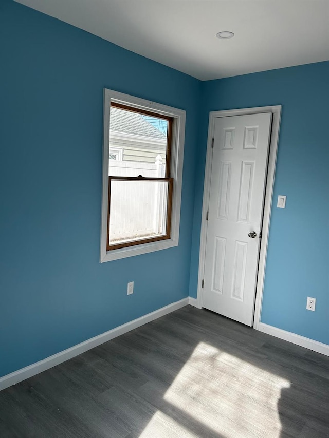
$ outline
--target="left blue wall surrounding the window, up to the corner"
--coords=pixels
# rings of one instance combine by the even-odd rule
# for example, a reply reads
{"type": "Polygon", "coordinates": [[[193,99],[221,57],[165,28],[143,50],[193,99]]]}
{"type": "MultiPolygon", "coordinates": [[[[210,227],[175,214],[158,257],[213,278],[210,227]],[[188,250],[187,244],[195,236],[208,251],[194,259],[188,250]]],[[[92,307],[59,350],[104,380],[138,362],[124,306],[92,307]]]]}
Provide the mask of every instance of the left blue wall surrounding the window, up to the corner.
{"type": "Polygon", "coordinates": [[[0,39],[2,376],[188,296],[200,82],[10,0],[0,39]],[[179,247],[99,263],[103,87],[187,111],[179,247]]]}

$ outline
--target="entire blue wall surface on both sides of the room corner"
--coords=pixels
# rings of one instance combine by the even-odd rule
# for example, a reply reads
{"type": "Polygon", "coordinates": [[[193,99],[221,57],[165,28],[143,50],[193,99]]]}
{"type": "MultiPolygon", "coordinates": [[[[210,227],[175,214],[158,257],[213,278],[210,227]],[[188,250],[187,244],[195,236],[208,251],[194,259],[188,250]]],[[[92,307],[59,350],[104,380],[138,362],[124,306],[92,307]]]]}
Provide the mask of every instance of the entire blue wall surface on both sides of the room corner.
{"type": "Polygon", "coordinates": [[[201,83],[11,0],[0,40],[0,376],[196,296],[219,109],[283,105],[262,321],[329,344],[328,62],[201,83]],[[187,126],[179,246],[100,264],[103,87],[185,109],[187,126]]]}

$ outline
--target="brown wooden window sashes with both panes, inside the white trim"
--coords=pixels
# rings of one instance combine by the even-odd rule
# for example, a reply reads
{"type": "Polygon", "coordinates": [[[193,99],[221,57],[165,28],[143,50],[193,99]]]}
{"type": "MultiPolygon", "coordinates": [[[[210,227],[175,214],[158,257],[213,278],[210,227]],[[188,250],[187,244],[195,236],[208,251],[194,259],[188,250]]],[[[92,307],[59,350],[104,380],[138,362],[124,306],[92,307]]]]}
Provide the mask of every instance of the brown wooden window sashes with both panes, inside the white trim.
{"type": "Polygon", "coordinates": [[[113,102],[109,120],[106,250],[170,239],[173,118],[113,102]],[[125,160],[114,163],[118,134],[125,160]]]}

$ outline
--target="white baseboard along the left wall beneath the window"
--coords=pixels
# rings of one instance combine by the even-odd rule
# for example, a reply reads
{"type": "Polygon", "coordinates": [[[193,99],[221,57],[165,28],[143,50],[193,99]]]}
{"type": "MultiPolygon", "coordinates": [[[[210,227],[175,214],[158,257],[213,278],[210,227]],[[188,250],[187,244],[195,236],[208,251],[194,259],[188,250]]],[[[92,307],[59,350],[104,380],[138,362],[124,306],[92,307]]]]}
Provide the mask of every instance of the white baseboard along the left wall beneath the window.
{"type": "Polygon", "coordinates": [[[114,339],[117,336],[123,335],[131,330],[137,329],[137,327],[143,326],[154,319],[160,318],[161,316],[167,315],[181,307],[187,306],[189,304],[189,298],[183,298],[180,301],[173,302],[168,306],[162,307],[161,309],[155,310],[154,312],[148,313],[147,315],[141,316],[140,318],[134,319],[133,321],[126,322],[122,326],[116,327],[115,329],[109,330],[101,335],[95,336],[93,338],[87,339],[81,344],[77,344],[73,347],[63,350],[57,354],[46,357],[35,364],[29,365],[28,367],[22,368],[20,370],[14,371],[13,373],[7,374],[6,376],[0,377],[0,391],[8,388],[9,386],[15,385],[16,383],[22,382],[29,377],[41,373],[42,371],[48,370],[65,360],[71,359],[72,357],[78,356],[87,350],[97,347],[103,342],[114,339]]]}

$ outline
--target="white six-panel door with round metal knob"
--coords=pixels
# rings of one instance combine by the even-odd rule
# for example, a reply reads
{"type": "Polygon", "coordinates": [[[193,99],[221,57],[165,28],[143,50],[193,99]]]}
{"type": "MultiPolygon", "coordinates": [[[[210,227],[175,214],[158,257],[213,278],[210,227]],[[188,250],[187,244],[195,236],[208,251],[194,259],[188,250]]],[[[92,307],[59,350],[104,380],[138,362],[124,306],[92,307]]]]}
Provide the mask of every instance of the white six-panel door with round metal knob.
{"type": "Polygon", "coordinates": [[[252,326],[272,113],[215,119],[203,307],[252,326]]]}

